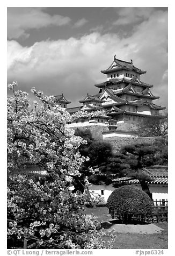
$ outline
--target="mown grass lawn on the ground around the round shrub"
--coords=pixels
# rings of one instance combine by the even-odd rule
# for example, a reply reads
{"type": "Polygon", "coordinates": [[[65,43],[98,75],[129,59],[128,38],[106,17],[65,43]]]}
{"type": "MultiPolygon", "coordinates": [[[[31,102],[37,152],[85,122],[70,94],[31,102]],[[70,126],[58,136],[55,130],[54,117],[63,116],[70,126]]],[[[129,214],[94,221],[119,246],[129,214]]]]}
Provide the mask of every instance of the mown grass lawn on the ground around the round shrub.
{"type": "MultiPolygon", "coordinates": [[[[93,214],[98,217],[100,222],[108,222],[111,216],[106,207],[86,208],[85,214],[93,214]]],[[[140,233],[119,233],[115,232],[116,238],[113,243],[113,249],[167,249],[168,235],[167,222],[154,223],[164,229],[158,234],[140,234],[140,233]]],[[[104,237],[104,240],[108,240],[104,237]]]]}

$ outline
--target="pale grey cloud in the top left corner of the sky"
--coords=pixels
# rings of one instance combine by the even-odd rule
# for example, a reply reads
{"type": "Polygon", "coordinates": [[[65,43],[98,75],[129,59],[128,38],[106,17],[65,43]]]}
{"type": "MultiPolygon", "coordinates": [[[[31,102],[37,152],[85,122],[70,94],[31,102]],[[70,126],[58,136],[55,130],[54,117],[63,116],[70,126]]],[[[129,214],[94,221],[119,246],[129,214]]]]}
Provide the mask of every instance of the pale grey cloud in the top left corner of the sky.
{"type": "Polygon", "coordinates": [[[43,8],[8,8],[8,38],[28,37],[29,29],[39,29],[50,25],[62,26],[70,22],[69,17],[50,16],[43,8]]]}

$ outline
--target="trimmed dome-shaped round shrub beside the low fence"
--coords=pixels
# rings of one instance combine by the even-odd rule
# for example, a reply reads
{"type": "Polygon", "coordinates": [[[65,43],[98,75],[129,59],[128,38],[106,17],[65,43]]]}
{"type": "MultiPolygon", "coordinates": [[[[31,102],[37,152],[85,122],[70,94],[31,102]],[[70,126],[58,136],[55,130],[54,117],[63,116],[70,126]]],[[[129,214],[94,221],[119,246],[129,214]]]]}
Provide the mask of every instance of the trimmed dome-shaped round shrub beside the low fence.
{"type": "Polygon", "coordinates": [[[133,185],[116,188],[107,200],[110,212],[116,211],[124,222],[131,221],[134,214],[151,214],[151,205],[150,197],[133,185]]]}

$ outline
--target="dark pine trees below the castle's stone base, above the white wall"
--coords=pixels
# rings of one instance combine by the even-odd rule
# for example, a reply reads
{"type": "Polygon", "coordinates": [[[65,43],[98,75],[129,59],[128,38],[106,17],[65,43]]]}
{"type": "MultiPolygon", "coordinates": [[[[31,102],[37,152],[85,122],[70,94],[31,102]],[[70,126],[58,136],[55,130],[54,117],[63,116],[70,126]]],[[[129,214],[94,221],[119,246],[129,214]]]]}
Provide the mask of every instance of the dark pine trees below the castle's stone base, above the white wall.
{"type": "MultiPolygon", "coordinates": [[[[114,179],[126,176],[128,180],[138,179],[143,191],[152,198],[147,183],[152,179],[143,168],[151,165],[167,165],[167,138],[160,138],[154,144],[126,145],[120,152],[114,154],[111,145],[106,141],[93,139],[90,130],[77,129],[76,135],[88,142],[79,148],[79,152],[90,158],[90,161],[82,166],[82,174],[88,176],[92,184],[109,185],[114,179]],[[98,167],[100,174],[90,174],[89,167],[98,167]]],[[[118,187],[114,184],[114,187],[116,186],[118,187]]]]}

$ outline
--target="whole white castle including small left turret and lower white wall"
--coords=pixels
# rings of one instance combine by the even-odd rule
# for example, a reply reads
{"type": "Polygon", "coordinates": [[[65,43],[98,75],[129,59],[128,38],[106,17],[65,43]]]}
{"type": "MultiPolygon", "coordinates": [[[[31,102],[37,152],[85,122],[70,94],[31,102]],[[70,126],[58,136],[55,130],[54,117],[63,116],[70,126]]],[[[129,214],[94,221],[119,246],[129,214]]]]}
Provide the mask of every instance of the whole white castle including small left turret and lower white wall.
{"type": "Polygon", "coordinates": [[[133,60],[124,61],[114,59],[110,67],[101,70],[107,75],[103,83],[95,84],[98,88],[96,95],[87,94],[79,103],[82,106],[67,108],[67,101],[63,95],[56,96],[57,104],[71,114],[77,111],[104,110],[105,115],[88,119],[86,117],[75,120],[70,127],[105,126],[104,131],[126,131],[143,122],[144,118],[158,117],[159,111],[165,107],[154,103],[155,96],[151,92],[152,84],[141,81],[141,75],[146,71],[134,66],[133,60]],[[65,101],[65,102],[64,102],[65,101]]]}

